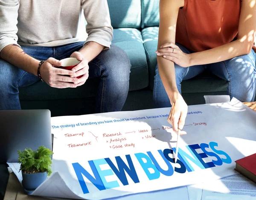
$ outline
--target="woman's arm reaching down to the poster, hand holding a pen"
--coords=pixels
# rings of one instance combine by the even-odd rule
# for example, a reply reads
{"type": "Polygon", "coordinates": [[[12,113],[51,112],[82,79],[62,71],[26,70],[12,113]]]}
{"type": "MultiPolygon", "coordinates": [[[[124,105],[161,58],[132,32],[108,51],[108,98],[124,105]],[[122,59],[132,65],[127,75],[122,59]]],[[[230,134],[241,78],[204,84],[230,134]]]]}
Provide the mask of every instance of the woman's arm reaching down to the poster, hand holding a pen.
{"type": "MultiPolygon", "coordinates": [[[[160,0],[160,25],[158,35],[158,49],[164,43],[175,43],[176,23],[180,7],[184,6],[184,0],[160,0]]],[[[162,56],[157,56],[158,70],[172,104],[168,121],[173,125],[173,130],[181,130],[185,123],[187,105],[177,90],[175,80],[175,68],[172,61],[162,56]]]]}

